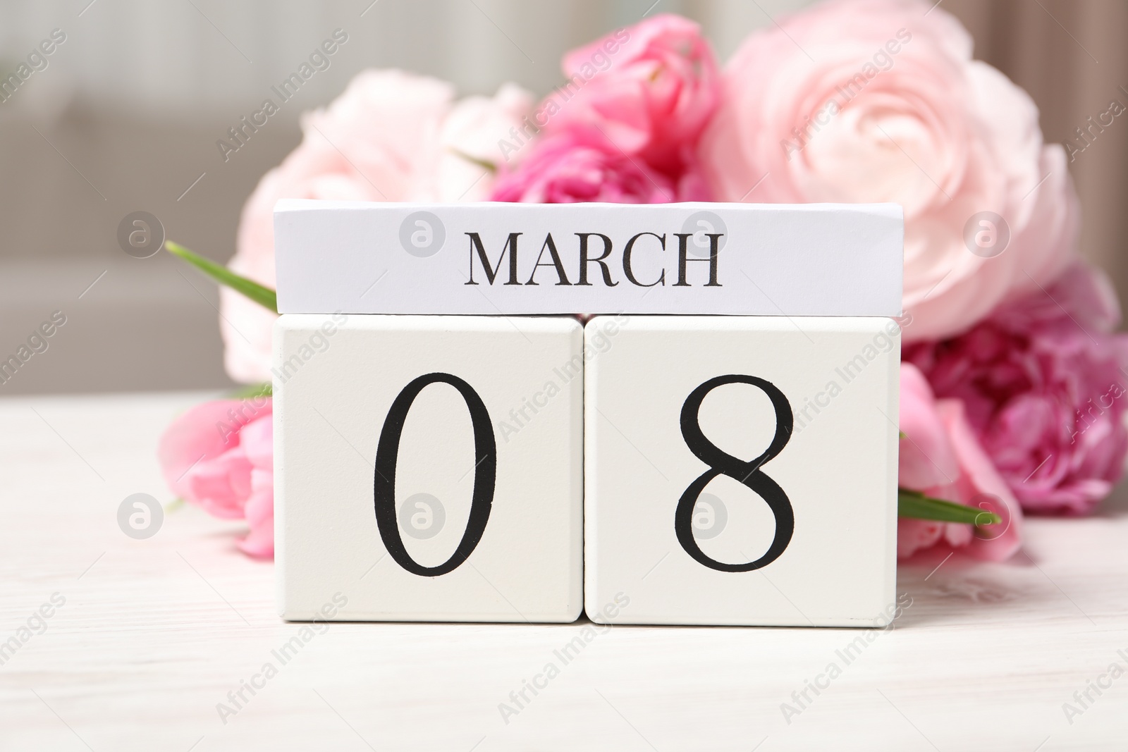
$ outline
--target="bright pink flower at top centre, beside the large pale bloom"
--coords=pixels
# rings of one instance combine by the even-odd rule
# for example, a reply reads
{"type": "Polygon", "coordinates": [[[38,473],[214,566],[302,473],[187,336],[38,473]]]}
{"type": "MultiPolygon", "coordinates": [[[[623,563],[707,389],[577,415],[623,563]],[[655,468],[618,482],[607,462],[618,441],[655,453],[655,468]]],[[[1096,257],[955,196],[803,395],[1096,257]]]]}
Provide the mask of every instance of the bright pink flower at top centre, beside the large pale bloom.
{"type": "Polygon", "coordinates": [[[566,80],[543,107],[546,135],[587,131],[672,179],[686,170],[721,94],[697,24],[654,16],[573,50],[562,67],[566,80]]]}

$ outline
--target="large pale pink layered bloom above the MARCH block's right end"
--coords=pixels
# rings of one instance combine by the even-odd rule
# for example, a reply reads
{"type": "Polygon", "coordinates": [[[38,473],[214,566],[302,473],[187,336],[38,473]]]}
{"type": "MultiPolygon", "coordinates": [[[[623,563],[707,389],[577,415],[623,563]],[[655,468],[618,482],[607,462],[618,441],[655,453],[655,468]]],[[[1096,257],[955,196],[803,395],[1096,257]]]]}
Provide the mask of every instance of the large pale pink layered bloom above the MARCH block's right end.
{"type": "Polygon", "coordinates": [[[901,204],[907,340],[959,334],[1049,284],[1078,215],[1033,101],[933,6],[830,0],[754,33],[700,149],[717,201],[901,204]],[[980,212],[1005,220],[1002,253],[1004,228],[990,247],[980,212]]]}

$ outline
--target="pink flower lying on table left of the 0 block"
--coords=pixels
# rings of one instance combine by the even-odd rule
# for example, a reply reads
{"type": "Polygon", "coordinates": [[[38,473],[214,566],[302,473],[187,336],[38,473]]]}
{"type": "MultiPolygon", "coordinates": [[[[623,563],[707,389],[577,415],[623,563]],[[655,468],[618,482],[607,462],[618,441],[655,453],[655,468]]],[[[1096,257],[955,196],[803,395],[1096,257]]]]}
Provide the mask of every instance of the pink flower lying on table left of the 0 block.
{"type": "Polygon", "coordinates": [[[173,422],[157,455],[180,498],[218,517],[245,517],[239,548],[274,556],[274,439],[268,397],[204,402],[173,422]]]}

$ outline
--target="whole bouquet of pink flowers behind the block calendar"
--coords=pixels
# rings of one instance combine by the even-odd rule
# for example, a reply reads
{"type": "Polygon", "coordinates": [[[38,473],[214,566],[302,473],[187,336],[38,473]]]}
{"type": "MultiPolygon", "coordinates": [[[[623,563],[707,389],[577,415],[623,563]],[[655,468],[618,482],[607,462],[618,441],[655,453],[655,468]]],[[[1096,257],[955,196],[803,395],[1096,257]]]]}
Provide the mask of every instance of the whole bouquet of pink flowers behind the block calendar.
{"type": "MultiPolygon", "coordinates": [[[[1128,451],[1128,337],[1076,255],[1065,151],[1030,97],[972,60],[924,0],[829,0],[751,34],[722,69],[662,15],[570,52],[539,103],[514,85],[456,99],[395,70],[358,74],[263,177],[227,267],[220,326],[237,381],[270,380],[271,213],[280,198],[660,203],[896,202],[905,211],[898,555],[1005,559],[1023,512],[1084,514],[1128,451]]],[[[160,444],[171,488],[246,517],[273,554],[268,384],[200,405],[160,444]]]]}

